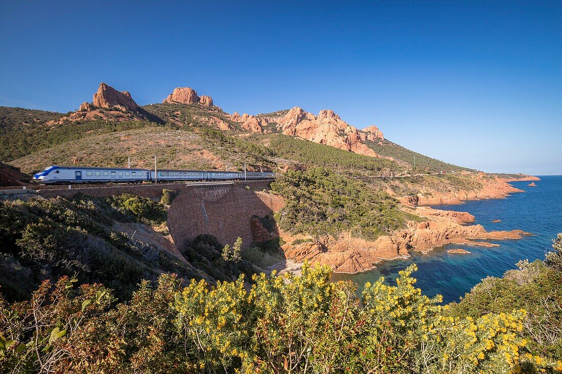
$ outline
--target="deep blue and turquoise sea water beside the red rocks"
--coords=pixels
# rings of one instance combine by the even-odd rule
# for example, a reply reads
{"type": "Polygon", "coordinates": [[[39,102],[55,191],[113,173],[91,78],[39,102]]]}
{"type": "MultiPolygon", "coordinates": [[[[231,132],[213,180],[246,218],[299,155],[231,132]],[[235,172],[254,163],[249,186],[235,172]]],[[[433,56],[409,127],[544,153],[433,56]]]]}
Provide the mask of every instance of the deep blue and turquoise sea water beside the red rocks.
{"type": "Polygon", "coordinates": [[[427,254],[411,252],[406,260],[388,261],[373,271],[343,275],[334,279],[350,279],[362,285],[376,281],[384,276],[391,283],[398,271],[411,263],[418,264],[414,273],[416,285],[428,296],[443,295],[443,302],[459,300],[466,292],[486,276],[501,276],[506,270],[516,268],[520,259],[529,261],[543,259],[551,249],[552,239],[562,232],[562,176],[540,176],[536,187],[527,186],[530,182],[511,183],[525,190],[505,199],[477,200],[456,206],[434,206],[437,209],[469,212],[476,218],[475,224],[486,230],[521,229],[531,232],[519,240],[486,240],[500,244],[495,248],[479,248],[458,244],[448,244],[427,254]],[[499,223],[492,220],[500,219],[499,223]],[[470,254],[448,254],[447,249],[463,248],[470,254]]]}

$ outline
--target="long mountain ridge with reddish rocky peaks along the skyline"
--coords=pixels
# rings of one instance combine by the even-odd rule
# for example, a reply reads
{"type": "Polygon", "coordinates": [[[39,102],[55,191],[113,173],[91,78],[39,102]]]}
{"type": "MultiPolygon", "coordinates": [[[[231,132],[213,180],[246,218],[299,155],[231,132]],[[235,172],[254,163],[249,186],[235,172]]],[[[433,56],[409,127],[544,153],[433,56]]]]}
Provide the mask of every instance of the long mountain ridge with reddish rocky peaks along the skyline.
{"type": "MultiPolygon", "coordinates": [[[[187,87],[174,89],[163,102],[138,106],[129,92],[120,92],[106,83],[101,83],[93,95],[92,103],[84,102],[77,111],[68,112],[66,115],[53,113],[49,115],[48,121],[39,121],[42,123],[38,122],[37,126],[31,126],[31,130],[25,134],[26,143],[29,144],[20,147],[24,149],[17,149],[17,147],[12,149],[13,145],[7,144],[10,147],[7,146],[4,152],[0,152],[0,161],[10,162],[37,150],[50,148],[49,146],[69,140],[74,141],[89,134],[103,134],[121,128],[138,128],[143,124],[148,126],[156,124],[195,129],[195,131],[207,127],[235,136],[284,134],[367,157],[388,159],[396,163],[395,166],[386,166],[387,170],[393,172],[404,172],[412,167],[411,157],[402,159],[401,151],[395,149],[400,146],[385,139],[377,126],[371,125],[364,130],[359,130],[343,121],[333,110],[321,110],[318,116],[306,112],[301,107],[257,115],[247,113],[239,115],[238,112],[229,114],[217,107],[212,97],[199,96],[196,90],[187,87]],[[97,125],[94,124],[96,121],[99,122],[97,125]],[[39,145],[41,143],[39,139],[49,137],[50,142],[39,145]]],[[[4,108],[4,111],[9,110],[10,108],[4,108]]],[[[18,129],[21,125],[21,123],[12,123],[0,127],[0,141],[10,143],[15,138],[21,138],[25,133],[18,129]],[[16,131],[10,131],[11,127],[16,127],[16,131]]],[[[261,143],[267,141],[260,139],[258,145],[261,146],[261,143]]],[[[427,171],[470,170],[419,153],[415,154],[419,158],[419,165],[423,165],[422,161],[425,158],[427,171]]]]}

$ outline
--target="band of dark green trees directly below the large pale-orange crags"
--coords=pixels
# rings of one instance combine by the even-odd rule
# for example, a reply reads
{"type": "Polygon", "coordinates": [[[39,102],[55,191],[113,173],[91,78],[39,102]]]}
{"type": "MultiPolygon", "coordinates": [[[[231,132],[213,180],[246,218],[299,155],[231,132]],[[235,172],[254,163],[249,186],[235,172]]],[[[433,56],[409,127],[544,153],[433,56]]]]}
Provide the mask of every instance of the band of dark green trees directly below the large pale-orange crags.
{"type": "Polygon", "coordinates": [[[387,159],[363,156],[282,134],[271,136],[269,148],[279,157],[294,159],[304,165],[346,170],[353,174],[400,169],[396,162],[387,159]]]}

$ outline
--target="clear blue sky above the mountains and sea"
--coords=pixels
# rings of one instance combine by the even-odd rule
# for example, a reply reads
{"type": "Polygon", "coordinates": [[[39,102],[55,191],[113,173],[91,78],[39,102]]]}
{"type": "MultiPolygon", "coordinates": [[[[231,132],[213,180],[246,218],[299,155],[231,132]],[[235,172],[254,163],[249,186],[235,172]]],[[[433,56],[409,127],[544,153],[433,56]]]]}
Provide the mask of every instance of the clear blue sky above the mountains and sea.
{"type": "Polygon", "coordinates": [[[562,1],[2,1],[0,105],[66,112],[100,82],[225,111],[332,108],[490,172],[562,174],[562,1]]]}

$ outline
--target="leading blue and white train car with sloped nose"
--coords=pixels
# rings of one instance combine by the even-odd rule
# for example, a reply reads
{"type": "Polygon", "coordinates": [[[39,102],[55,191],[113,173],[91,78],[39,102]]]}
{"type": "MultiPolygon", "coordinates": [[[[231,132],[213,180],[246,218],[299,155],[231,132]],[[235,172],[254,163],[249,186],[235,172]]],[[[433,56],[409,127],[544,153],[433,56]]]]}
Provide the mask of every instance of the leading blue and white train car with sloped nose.
{"type": "Polygon", "coordinates": [[[33,175],[32,181],[44,184],[142,182],[150,180],[150,171],[119,167],[49,166],[33,175]]]}

